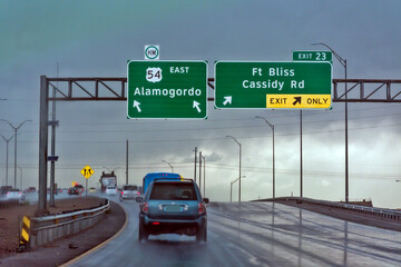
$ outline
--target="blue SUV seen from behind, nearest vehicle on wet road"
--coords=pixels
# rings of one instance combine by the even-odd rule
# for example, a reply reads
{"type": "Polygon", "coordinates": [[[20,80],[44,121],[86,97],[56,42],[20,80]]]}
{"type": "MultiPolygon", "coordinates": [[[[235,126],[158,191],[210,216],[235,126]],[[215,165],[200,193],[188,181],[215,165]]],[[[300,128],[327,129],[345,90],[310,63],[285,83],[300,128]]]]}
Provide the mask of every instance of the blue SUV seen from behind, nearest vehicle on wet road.
{"type": "Polygon", "coordinates": [[[139,240],[149,235],[178,234],[207,239],[206,204],[192,179],[157,179],[150,184],[140,202],[139,240]]]}

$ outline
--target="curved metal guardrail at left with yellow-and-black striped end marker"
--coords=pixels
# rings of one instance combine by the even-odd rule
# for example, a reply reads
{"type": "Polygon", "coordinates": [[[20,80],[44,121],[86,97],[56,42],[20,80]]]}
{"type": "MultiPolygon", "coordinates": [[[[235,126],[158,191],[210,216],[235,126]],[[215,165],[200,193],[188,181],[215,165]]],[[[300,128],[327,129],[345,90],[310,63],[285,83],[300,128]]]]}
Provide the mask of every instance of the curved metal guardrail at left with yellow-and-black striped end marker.
{"type": "Polygon", "coordinates": [[[19,251],[85,230],[99,222],[110,204],[102,199],[99,207],[45,217],[23,217],[19,251]]]}

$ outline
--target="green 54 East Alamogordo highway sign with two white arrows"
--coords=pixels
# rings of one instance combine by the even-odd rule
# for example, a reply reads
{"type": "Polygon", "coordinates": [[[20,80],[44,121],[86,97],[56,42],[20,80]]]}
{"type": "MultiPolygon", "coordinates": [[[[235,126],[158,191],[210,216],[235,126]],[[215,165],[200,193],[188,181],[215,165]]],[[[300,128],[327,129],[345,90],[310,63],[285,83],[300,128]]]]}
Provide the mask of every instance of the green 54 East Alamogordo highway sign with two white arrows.
{"type": "Polygon", "coordinates": [[[207,117],[206,61],[128,61],[127,117],[207,117]]]}

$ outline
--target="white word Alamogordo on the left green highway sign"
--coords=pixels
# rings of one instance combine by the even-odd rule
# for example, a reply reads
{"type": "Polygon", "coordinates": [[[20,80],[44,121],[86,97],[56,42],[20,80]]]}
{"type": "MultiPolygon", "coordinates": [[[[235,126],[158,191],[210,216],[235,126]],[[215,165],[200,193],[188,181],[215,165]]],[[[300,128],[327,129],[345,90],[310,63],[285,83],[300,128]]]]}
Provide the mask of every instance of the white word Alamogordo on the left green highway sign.
{"type": "Polygon", "coordinates": [[[202,95],[200,89],[189,88],[189,89],[159,89],[159,88],[135,88],[134,96],[147,96],[147,97],[199,97],[202,95]]]}

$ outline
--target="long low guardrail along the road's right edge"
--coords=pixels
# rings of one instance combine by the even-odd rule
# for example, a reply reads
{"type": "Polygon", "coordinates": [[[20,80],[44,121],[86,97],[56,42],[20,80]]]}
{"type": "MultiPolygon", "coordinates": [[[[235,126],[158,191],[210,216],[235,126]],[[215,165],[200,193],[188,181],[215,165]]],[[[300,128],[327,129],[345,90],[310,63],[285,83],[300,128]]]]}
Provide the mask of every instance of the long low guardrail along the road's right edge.
{"type": "Polygon", "coordinates": [[[393,209],[373,208],[373,207],[365,207],[365,206],[359,206],[359,205],[352,205],[352,204],[334,202],[334,201],[327,201],[327,200],[316,200],[316,199],[312,199],[312,198],[301,198],[301,197],[280,197],[280,198],[270,198],[266,200],[268,200],[268,201],[275,201],[275,200],[303,201],[303,202],[322,205],[322,206],[327,206],[327,207],[333,207],[333,208],[350,209],[350,210],[354,210],[354,211],[359,211],[359,212],[363,212],[363,214],[370,214],[370,215],[382,217],[382,218],[401,220],[401,211],[393,210],[393,209]]]}

